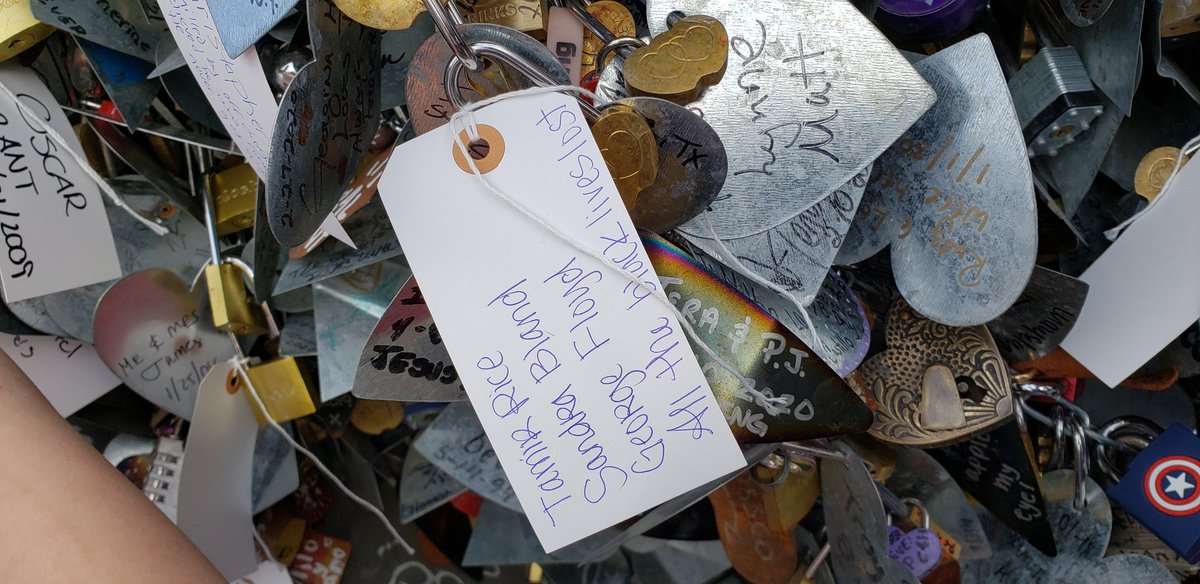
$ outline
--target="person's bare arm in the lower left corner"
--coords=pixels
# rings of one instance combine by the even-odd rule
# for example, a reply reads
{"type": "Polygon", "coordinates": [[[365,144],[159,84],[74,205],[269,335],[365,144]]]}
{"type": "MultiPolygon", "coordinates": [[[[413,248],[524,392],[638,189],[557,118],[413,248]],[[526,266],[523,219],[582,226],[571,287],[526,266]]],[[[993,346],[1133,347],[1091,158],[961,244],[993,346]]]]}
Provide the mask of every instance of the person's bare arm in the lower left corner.
{"type": "Polygon", "coordinates": [[[224,583],[0,351],[5,582],[224,583]]]}

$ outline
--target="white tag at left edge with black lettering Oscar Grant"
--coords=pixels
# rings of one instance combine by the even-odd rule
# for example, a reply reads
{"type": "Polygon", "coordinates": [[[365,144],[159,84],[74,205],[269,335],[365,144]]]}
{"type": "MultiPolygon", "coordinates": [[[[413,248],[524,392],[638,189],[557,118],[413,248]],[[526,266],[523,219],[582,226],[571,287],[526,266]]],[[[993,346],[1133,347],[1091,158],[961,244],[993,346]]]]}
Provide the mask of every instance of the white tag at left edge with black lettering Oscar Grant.
{"type": "Polygon", "coordinates": [[[0,65],[0,285],[8,302],[121,277],[100,188],[79,168],[83,146],[54,96],[29,68],[0,65]],[[73,152],[46,132],[49,126],[73,152]]]}

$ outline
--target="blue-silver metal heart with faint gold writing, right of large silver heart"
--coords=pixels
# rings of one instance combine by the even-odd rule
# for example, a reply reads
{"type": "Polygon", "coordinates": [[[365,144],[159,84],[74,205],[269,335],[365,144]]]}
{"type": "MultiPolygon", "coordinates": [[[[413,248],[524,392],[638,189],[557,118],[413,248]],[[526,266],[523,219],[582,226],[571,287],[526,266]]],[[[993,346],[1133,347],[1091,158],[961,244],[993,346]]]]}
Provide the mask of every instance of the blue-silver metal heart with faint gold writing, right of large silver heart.
{"type": "Polygon", "coordinates": [[[880,157],[839,263],[888,243],[896,288],[938,323],[986,323],[1016,301],[1037,253],[1025,139],[991,41],[918,62],[937,103],[880,157]]]}

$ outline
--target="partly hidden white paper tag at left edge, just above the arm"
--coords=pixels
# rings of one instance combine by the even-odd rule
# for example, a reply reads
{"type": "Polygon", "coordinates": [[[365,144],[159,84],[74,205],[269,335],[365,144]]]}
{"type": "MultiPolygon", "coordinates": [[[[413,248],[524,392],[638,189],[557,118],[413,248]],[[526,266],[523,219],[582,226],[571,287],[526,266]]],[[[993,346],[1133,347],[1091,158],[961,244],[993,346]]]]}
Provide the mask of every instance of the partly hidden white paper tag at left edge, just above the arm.
{"type": "Polygon", "coordinates": [[[0,333],[0,349],[62,417],[121,385],[95,348],[73,338],[0,333]]]}

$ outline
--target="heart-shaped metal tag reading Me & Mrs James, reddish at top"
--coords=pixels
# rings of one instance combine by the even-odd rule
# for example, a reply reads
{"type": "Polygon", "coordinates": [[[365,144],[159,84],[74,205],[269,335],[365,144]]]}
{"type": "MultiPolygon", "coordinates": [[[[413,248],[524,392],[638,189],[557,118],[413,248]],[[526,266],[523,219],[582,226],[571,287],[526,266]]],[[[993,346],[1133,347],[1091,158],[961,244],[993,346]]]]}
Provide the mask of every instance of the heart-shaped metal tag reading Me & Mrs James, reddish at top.
{"type": "Polygon", "coordinates": [[[138,395],[185,420],[204,375],[235,354],[212,326],[203,290],[190,290],[167,270],[134,272],[100,299],[92,326],[101,361],[138,395]]]}

